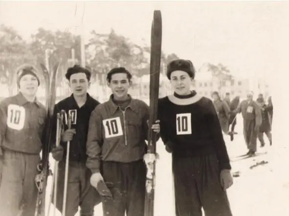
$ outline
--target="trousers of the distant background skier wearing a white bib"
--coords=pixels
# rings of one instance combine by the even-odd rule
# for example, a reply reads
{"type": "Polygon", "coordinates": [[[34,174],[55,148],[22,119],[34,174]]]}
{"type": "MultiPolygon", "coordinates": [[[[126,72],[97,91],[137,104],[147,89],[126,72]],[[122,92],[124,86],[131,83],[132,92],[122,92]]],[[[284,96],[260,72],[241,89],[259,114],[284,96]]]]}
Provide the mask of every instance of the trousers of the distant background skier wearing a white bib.
{"type": "Polygon", "coordinates": [[[255,130],[255,120],[244,120],[244,138],[249,151],[257,151],[257,136],[255,130]]]}

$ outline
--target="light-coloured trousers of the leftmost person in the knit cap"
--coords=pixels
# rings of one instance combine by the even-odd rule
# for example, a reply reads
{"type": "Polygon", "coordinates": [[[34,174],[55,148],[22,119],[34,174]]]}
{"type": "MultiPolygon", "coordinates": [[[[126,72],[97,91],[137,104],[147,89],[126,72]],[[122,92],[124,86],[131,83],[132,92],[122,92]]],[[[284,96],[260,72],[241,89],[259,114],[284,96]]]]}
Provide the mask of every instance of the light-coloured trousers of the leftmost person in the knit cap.
{"type": "Polygon", "coordinates": [[[36,208],[39,154],[3,150],[0,215],[33,216],[36,208]]]}

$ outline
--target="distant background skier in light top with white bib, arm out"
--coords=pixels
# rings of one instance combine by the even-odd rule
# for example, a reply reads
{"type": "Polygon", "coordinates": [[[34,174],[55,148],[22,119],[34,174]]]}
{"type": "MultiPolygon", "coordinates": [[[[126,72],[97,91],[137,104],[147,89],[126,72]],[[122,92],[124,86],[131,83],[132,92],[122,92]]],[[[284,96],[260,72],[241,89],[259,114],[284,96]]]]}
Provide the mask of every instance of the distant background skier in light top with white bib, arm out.
{"type": "Polygon", "coordinates": [[[254,93],[247,92],[247,99],[242,101],[233,114],[242,112],[244,123],[244,138],[247,145],[248,155],[254,155],[257,151],[257,136],[262,123],[261,108],[253,101],[254,93]]]}

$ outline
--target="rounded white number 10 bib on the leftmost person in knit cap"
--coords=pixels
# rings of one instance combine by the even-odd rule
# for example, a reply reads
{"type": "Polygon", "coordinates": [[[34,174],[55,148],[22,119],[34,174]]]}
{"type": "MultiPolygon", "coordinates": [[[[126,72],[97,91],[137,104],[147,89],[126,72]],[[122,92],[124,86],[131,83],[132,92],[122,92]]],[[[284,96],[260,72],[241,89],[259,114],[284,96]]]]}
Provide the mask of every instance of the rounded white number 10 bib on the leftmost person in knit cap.
{"type": "Polygon", "coordinates": [[[25,122],[25,108],[10,104],[7,110],[7,127],[22,130],[25,122]]]}

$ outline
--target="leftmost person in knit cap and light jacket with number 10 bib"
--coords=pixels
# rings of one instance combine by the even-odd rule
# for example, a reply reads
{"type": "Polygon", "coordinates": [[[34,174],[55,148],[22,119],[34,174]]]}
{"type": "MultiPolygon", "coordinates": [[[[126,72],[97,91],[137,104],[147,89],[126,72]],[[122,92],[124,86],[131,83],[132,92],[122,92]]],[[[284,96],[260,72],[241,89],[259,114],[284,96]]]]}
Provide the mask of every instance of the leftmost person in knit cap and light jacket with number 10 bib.
{"type": "Polygon", "coordinates": [[[22,69],[17,84],[20,92],[0,103],[0,215],[33,216],[46,111],[36,99],[40,81],[33,67],[22,69]]]}

